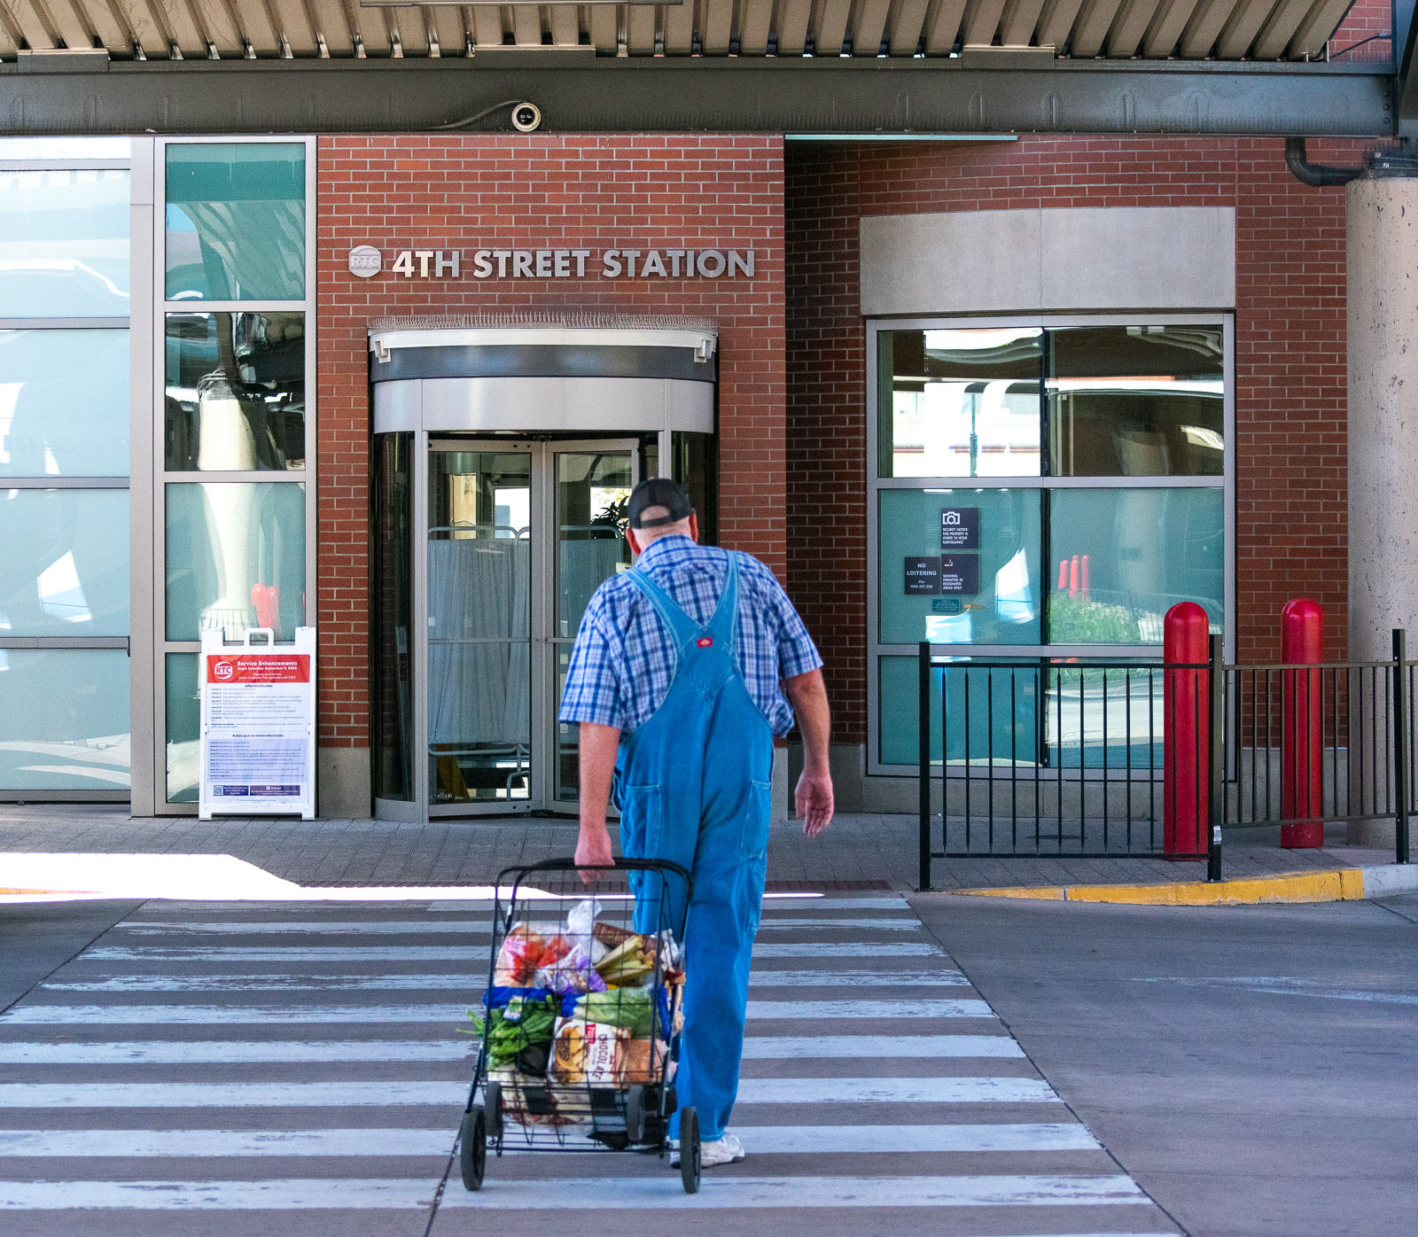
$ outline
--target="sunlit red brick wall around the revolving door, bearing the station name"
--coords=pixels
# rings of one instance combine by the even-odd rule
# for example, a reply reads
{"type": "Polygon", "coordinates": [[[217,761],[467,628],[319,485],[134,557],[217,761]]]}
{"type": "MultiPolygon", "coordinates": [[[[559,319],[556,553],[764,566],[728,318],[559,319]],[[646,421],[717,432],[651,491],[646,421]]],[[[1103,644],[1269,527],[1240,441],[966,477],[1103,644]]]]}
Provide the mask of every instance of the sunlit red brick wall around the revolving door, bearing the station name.
{"type": "Polygon", "coordinates": [[[319,716],[369,743],[366,328],[386,314],[607,309],[720,328],[719,536],[786,567],[783,142],[776,136],[329,136],[319,142],[319,716]],[[397,248],[753,248],[736,279],[357,279],[397,248]]]}

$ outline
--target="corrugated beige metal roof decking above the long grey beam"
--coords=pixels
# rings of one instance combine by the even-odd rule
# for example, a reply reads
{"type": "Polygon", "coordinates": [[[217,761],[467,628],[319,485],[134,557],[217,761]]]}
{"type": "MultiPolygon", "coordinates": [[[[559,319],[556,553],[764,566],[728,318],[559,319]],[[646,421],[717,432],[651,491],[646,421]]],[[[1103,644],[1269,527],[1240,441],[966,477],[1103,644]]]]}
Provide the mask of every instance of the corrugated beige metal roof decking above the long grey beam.
{"type": "Polygon", "coordinates": [[[1072,58],[1313,60],[1351,0],[685,0],[393,4],[372,0],[7,0],[0,57],[104,48],[147,60],[598,55],[913,57],[971,45],[1072,58]]]}

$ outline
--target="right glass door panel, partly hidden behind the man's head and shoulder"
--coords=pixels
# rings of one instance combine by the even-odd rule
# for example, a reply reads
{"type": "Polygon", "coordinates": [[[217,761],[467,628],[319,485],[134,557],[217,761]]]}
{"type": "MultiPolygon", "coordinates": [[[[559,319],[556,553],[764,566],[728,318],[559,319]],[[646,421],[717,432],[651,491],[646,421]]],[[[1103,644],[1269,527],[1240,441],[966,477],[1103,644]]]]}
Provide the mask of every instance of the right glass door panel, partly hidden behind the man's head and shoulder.
{"type": "MultiPolygon", "coordinates": [[[[566,682],[576,630],[591,594],[603,582],[630,567],[625,505],[637,481],[634,441],[564,443],[550,448],[553,472],[553,553],[550,647],[553,674],[547,685],[552,714],[566,682]]],[[[556,722],[552,797],[574,803],[577,796],[577,728],[556,722]]]]}

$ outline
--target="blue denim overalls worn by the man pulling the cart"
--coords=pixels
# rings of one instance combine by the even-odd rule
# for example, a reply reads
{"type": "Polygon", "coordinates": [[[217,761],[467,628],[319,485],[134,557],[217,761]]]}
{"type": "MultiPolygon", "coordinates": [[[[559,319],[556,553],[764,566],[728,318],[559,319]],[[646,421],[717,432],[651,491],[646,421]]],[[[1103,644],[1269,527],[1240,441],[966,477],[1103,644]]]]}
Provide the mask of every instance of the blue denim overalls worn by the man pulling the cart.
{"type": "MultiPolygon", "coordinates": [[[[695,878],[675,1088],[681,1106],[699,1109],[700,1138],[712,1142],[723,1133],[739,1091],[749,963],[767,867],[773,732],[733,655],[737,556],[729,555],[708,627],[689,618],[645,572],[628,575],[669,628],[678,658],[664,704],[621,739],[615,762],[621,853],[674,860],[695,878]]],[[[637,894],[659,892],[658,877],[637,874],[634,884],[637,894]]],[[[675,898],[674,882],[666,884],[668,922],[678,923],[683,897],[675,898]]],[[[641,898],[641,908],[651,915],[654,897],[641,898]]],[[[647,918],[637,926],[657,925],[647,918]]]]}

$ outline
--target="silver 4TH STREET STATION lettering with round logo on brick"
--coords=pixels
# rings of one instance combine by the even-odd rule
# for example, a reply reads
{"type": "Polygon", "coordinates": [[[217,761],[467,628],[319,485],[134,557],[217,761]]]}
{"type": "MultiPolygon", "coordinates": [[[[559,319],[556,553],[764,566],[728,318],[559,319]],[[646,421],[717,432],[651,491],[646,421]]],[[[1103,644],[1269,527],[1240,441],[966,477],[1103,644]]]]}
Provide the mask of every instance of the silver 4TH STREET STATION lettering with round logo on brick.
{"type": "MultiPolygon", "coordinates": [[[[733,279],[753,278],[754,250],[396,250],[391,275],[406,279],[733,279]]],[[[350,250],[350,274],[384,270],[373,245],[350,250]]]]}

